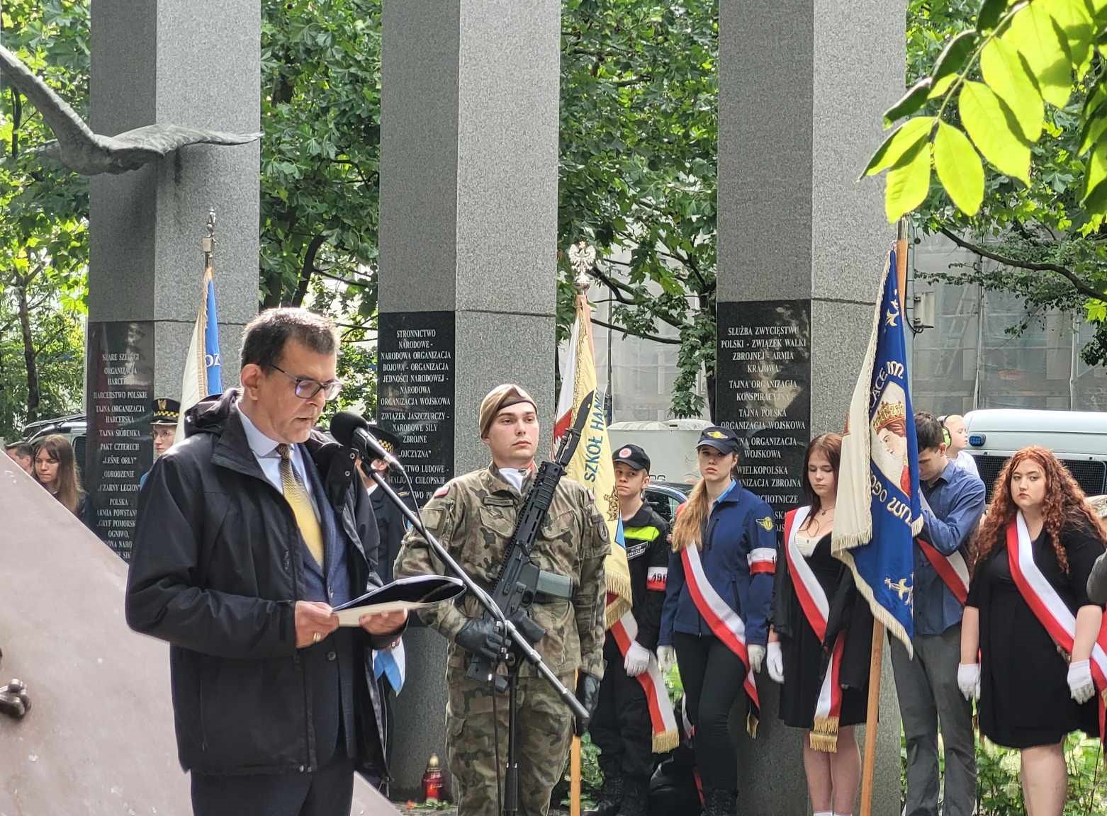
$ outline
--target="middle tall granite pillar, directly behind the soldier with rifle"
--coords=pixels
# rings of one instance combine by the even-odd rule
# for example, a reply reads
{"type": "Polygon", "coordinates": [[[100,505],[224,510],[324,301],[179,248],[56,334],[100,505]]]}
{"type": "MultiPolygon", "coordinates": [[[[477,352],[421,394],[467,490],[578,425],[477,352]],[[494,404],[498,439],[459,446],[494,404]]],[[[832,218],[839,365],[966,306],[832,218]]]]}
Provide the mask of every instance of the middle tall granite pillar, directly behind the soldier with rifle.
{"type": "MultiPolygon", "coordinates": [[[[480,399],[516,381],[552,431],[560,3],[384,3],[380,420],[416,498],[484,467],[480,399]]],[[[445,761],[445,641],[405,637],[393,793],[445,761]]]]}

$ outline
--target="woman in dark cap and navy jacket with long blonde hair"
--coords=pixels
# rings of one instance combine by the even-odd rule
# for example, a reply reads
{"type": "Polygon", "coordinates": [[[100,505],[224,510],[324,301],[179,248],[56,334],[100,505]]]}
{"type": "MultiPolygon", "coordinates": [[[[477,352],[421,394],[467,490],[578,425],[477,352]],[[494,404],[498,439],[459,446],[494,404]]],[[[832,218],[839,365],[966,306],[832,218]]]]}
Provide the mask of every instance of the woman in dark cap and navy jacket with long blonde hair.
{"type": "Polygon", "coordinates": [[[663,669],[674,657],[680,665],[705,816],[735,813],[737,735],[727,721],[748,699],[754,732],[776,571],[773,511],[735,478],[738,451],[730,428],[705,428],[696,443],[702,478],[673,524],[658,647],[663,669]]]}

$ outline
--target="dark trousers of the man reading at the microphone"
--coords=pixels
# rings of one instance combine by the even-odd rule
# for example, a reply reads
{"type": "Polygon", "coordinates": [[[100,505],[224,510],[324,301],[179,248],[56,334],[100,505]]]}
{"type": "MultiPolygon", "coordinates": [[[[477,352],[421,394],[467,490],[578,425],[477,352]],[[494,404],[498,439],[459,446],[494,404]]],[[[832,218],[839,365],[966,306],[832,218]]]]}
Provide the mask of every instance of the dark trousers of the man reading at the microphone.
{"type": "Polygon", "coordinates": [[[193,775],[195,816],[349,816],[353,760],[340,747],[315,773],[193,775]]]}

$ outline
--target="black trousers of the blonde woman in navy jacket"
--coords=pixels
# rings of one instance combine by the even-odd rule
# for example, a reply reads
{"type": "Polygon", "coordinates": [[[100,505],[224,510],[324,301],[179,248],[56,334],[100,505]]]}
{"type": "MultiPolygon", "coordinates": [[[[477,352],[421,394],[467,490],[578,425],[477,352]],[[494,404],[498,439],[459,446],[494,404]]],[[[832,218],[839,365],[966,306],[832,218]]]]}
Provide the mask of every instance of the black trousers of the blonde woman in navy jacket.
{"type": "Polygon", "coordinates": [[[675,632],[673,646],[689,720],[695,728],[695,762],[703,786],[736,791],[737,733],[731,730],[730,718],[735,703],[745,713],[746,694],[742,688],[745,667],[714,635],[675,632]]]}

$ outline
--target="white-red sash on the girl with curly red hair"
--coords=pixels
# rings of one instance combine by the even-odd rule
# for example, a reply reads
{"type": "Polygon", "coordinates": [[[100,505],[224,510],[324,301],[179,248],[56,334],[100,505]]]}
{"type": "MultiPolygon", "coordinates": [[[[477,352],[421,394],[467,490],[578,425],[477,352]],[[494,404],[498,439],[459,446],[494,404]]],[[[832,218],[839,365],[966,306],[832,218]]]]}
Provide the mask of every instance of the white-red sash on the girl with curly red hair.
{"type": "MultiPolygon", "coordinates": [[[[1049,637],[1068,655],[1076,640],[1076,616],[1069,611],[1056,588],[1034,563],[1034,542],[1020,512],[1007,524],[1007,564],[1015,586],[1034,617],[1049,637]]],[[[1092,645],[1092,680],[1096,687],[1099,709],[1099,739],[1105,739],[1104,694],[1107,693],[1107,616],[1104,616],[1096,641],[1092,645]]]]}

